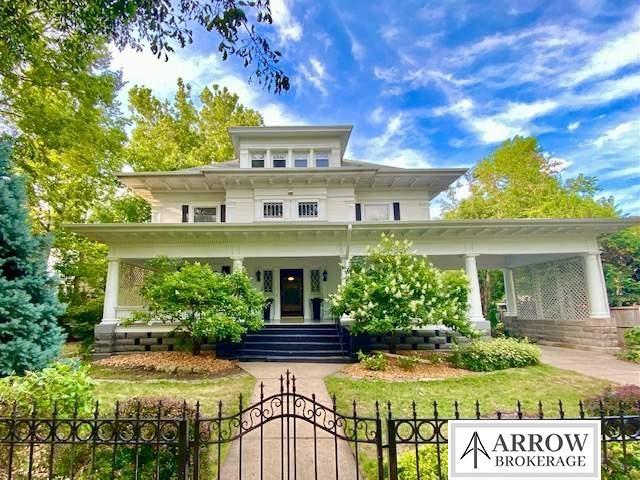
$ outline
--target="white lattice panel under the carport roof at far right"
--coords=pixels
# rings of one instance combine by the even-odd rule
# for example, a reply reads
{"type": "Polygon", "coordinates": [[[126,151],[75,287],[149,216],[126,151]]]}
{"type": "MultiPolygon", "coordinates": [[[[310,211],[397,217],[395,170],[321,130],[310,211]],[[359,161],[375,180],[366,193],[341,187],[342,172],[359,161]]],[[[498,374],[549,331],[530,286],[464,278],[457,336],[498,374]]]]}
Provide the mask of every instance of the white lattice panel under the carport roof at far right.
{"type": "Polygon", "coordinates": [[[589,298],[581,258],[514,270],[518,317],[525,320],[585,320],[589,298]]]}

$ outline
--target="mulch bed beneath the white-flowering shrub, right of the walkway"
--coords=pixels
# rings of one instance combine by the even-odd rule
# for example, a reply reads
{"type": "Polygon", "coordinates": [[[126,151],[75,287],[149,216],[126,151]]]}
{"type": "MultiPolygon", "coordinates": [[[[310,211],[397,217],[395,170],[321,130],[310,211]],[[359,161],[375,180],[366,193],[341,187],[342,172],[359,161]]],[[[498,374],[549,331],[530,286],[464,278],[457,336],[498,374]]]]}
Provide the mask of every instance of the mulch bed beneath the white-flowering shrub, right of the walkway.
{"type": "Polygon", "coordinates": [[[383,371],[367,370],[359,363],[348,365],[341,370],[341,373],[352,378],[367,380],[442,380],[445,378],[464,377],[472,375],[472,372],[455,368],[447,362],[440,363],[417,363],[413,369],[404,370],[400,368],[398,360],[387,357],[389,365],[383,371]]]}

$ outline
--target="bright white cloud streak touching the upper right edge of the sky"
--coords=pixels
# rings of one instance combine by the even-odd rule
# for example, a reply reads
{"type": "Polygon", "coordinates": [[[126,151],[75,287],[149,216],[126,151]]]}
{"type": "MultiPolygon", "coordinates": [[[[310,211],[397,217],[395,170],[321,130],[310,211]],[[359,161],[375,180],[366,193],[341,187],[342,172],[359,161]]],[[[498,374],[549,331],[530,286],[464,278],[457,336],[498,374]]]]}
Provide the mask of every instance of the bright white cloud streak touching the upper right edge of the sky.
{"type": "Polygon", "coordinates": [[[596,51],[583,68],[571,72],[564,79],[564,85],[577,85],[593,78],[600,78],[619,69],[640,63],[640,31],[614,38],[596,51]]]}

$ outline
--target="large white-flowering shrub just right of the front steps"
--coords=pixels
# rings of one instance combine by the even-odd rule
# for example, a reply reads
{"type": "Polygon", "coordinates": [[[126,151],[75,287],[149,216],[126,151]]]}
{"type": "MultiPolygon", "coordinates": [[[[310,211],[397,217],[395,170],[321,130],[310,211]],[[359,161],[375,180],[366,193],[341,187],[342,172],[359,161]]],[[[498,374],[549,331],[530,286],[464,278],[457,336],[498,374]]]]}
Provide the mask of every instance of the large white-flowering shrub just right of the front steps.
{"type": "Polygon", "coordinates": [[[443,324],[474,336],[467,319],[468,282],[462,271],[443,272],[407,241],[382,235],[367,256],[352,262],[344,285],[331,297],[335,315],[349,315],[355,334],[391,335],[443,324]]]}

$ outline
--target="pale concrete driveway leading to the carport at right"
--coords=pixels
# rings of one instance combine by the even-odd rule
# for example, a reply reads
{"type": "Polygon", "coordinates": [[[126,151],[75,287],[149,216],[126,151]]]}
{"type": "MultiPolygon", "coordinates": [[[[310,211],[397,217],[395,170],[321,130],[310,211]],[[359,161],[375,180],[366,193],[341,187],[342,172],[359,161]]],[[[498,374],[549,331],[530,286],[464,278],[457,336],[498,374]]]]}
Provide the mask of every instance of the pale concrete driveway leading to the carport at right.
{"type": "Polygon", "coordinates": [[[540,345],[542,362],[620,384],[640,385],[640,365],[607,353],[540,345]]]}

